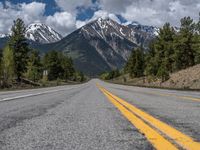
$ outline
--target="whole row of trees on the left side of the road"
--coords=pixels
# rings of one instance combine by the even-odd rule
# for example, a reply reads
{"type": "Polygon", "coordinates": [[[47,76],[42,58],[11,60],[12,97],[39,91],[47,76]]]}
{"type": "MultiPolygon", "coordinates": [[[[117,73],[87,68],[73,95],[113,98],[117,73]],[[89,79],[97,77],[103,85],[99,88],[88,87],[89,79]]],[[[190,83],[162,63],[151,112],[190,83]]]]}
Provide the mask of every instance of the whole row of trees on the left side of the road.
{"type": "Polygon", "coordinates": [[[26,26],[21,19],[14,21],[11,35],[0,52],[1,87],[10,87],[22,78],[33,82],[41,80],[84,81],[83,73],[74,69],[73,61],[62,52],[49,51],[41,56],[32,49],[25,37],[26,26]]]}

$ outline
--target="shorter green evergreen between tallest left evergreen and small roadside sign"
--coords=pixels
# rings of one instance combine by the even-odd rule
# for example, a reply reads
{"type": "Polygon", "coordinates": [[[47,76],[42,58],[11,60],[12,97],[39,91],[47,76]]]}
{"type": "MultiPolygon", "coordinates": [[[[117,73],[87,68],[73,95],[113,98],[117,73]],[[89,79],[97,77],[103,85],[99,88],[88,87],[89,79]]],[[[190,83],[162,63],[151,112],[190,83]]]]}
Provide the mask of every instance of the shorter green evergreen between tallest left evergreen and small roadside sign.
{"type": "Polygon", "coordinates": [[[30,53],[26,77],[34,82],[42,77],[42,64],[38,51],[33,50],[30,53]]]}

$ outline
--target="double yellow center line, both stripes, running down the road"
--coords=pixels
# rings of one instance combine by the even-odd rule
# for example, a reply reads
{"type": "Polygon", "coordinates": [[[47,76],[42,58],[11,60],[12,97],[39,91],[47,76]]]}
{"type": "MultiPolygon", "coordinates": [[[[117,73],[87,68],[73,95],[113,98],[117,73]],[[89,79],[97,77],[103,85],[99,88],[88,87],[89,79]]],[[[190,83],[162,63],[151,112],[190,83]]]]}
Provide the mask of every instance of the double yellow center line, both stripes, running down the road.
{"type": "Polygon", "coordinates": [[[109,101],[143,133],[147,140],[158,150],[200,150],[200,143],[181,133],[168,124],[154,118],[134,105],[113,95],[105,88],[97,85],[109,101]]]}

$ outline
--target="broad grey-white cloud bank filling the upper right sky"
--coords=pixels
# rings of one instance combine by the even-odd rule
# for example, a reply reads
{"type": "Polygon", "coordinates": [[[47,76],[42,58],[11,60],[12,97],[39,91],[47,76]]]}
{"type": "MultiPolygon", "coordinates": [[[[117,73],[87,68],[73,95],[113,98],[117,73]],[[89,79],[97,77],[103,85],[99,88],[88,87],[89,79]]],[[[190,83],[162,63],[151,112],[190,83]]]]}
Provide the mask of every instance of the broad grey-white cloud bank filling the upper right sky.
{"type": "Polygon", "coordinates": [[[98,0],[108,13],[119,14],[126,20],[162,26],[165,22],[178,26],[184,16],[198,19],[199,0],[98,0]]]}

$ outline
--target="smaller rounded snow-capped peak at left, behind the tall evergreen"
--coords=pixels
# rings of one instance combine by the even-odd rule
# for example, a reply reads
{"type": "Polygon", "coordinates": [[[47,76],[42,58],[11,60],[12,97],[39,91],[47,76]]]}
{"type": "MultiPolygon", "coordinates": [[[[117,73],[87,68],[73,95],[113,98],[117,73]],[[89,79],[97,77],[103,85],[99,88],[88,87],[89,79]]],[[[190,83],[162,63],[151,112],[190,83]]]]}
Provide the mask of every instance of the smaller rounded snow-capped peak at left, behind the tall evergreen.
{"type": "Polygon", "coordinates": [[[58,32],[42,23],[30,24],[26,30],[26,37],[39,43],[53,43],[62,39],[58,32]]]}

